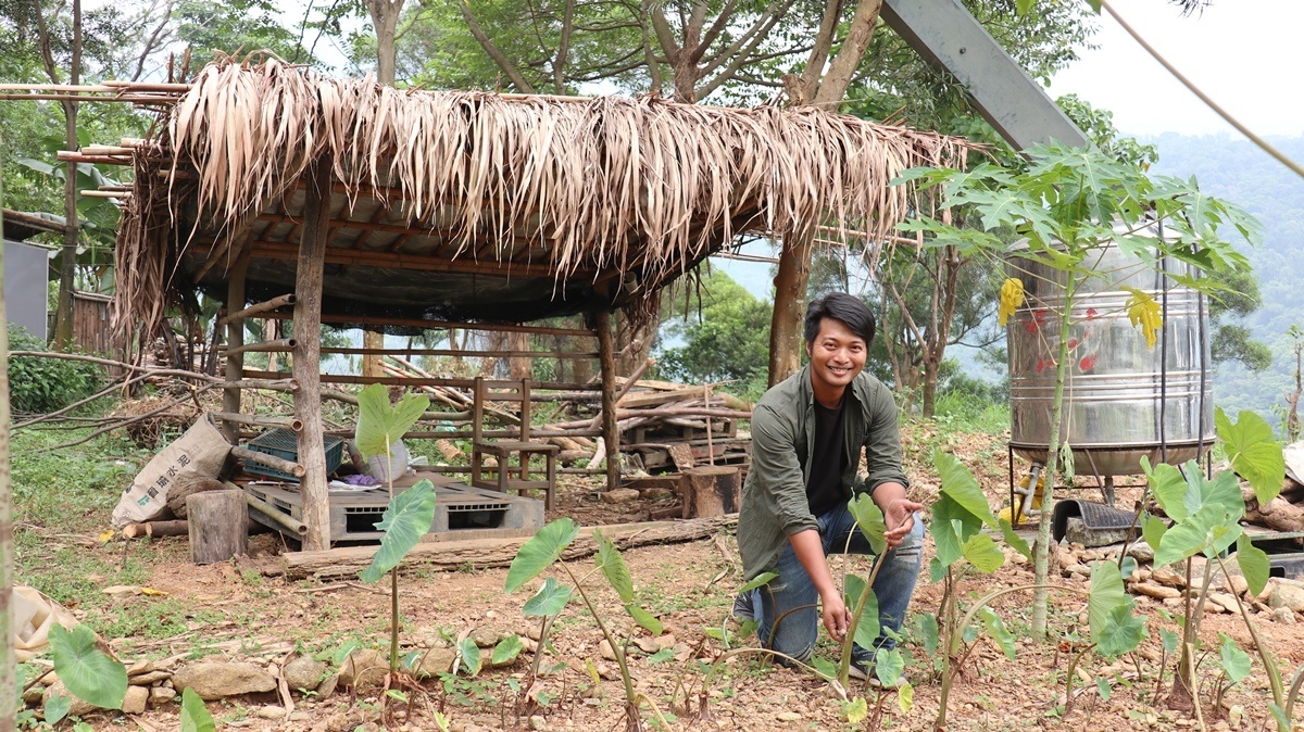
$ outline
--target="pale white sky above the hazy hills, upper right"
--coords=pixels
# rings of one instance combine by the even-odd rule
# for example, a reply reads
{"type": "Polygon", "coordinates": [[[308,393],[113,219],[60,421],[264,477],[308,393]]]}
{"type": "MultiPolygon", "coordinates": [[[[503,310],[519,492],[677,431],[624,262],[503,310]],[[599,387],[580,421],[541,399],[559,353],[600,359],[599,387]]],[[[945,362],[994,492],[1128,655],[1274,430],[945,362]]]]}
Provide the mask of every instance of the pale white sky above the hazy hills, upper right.
{"type": "MultiPolygon", "coordinates": [[[[1213,0],[1181,16],[1167,0],[1111,0],[1170,64],[1251,130],[1304,135],[1304,0],[1213,0]]],[[[1102,12],[1094,49],[1060,72],[1052,98],[1077,94],[1132,135],[1237,134],[1102,12]]]]}

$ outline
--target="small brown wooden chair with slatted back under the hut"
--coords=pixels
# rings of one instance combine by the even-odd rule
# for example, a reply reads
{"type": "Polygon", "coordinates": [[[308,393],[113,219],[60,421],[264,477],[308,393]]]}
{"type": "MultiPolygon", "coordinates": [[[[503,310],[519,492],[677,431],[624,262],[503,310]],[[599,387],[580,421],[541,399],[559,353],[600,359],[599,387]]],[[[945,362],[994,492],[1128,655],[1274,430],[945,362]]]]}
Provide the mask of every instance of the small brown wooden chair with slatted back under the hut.
{"type": "Polygon", "coordinates": [[[529,440],[529,379],[520,382],[486,382],[476,378],[475,402],[471,408],[471,485],[496,491],[516,491],[526,495],[529,491],[544,491],[545,511],[553,509],[553,494],[557,488],[557,453],[559,447],[529,440]],[[490,388],[492,384],[492,388],[490,388]],[[489,402],[519,404],[520,439],[488,440],[482,438],[485,406],[489,402]],[[498,466],[486,468],[485,456],[497,458],[498,466]],[[542,479],[529,475],[529,458],[542,455],[545,473],[542,479]],[[516,464],[512,465],[512,458],[516,464]],[[485,477],[486,470],[497,472],[496,479],[485,477]]]}

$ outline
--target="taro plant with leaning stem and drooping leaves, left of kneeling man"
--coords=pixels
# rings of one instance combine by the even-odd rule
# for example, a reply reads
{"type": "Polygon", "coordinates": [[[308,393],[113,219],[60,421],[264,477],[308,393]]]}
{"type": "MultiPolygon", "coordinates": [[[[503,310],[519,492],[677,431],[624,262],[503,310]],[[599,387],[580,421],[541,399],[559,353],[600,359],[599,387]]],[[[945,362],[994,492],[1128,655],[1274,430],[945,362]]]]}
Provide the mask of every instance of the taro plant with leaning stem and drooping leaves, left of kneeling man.
{"type": "MultiPolygon", "coordinates": [[[[529,582],[541,574],[549,567],[553,567],[554,564],[561,567],[570,577],[574,586],[557,582],[549,585],[548,581],[545,581],[540,587],[540,591],[531,598],[531,602],[537,599],[533,612],[544,616],[556,616],[566,607],[571,593],[579,593],[580,600],[584,603],[584,608],[588,611],[589,616],[593,617],[599,630],[602,633],[602,638],[605,638],[606,643],[612,647],[615,663],[619,667],[621,681],[625,685],[626,729],[632,732],[643,728],[640,710],[644,703],[652,709],[652,712],[656,715],[661,728],[669,729],[669,723],[661,715],[656,703],[642,692],[634,689],[634,676],[630,673],[627,653],[629,642],[632,638],[632,629],[629,634],[621,637],[610,619],[604,617],[593,604],[589,591],[584,587],[583,580],[576,577],[571,565],[562,559],[562,552],[571,546],[578,535],[579,526],[576,526],[570,518],[558,518],[557,521],[553,521],[540,529],[537,534],[522,544],[520,550],[516,551],[516,556],[512,559],[511,567],[507,569],[505,591],[511,594],[520,589],[526,582],[529,582]]],[[[634,598],[634,580],[630,576],[629,565],[625,564],[625,557],[621,555],[621,550],[618,550],[610,539],[604,537],[602,531],[599,529],[593,529],[593,541],[597,544],[597,554],[595,555],[596,570],[601,572],[602,576],[606,577],[606,581],[612,585],[612,589],[615,590],[615,594],[621,599],[621,604],[625,607],[625,611],[630,615],[634,623],[653,636],[660,636],[662,632],[661,621],[639,606],[634,598]]],[[[540,640],[540,650],[542,650],[542,640],[540,640]]]]}

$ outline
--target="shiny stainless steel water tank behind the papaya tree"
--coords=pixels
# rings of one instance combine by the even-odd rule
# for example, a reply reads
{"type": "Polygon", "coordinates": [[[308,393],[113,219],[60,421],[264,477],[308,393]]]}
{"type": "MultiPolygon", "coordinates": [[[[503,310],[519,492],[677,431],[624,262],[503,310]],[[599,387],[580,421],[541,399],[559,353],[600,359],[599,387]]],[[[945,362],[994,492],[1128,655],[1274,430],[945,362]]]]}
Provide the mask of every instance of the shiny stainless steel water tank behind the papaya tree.
{"type": "MultiPolygon", "coordinates": [[[[1214,440],[1205,298],[1167,280],[1162,330],[1167,348],[1157,343],[1149,349],[1142,332],[1128,322],[1123,305],[1129,293],[1123,287],[1162,302],[1163,274],[1114,245],[1093,251],[1082,264],[1097,275],[1082,283],[1073,302],[1060,435],[1073,447],[1076,472],[1140,473],[1141,456],[1151,464],[1161,461],[1161,443],[1167,445],[1167,462],[1196,457],[1214,440]],[[1164,353],[1166,367],[1161,367],[1164,353]]],[[[1171,259],[1164,267],[1170,274],[1197,274],[1171,259]]],[[[1059,356],[1055,311],[1063,309],[1065,276],[1017,257],[1008,260],[1008,268],[1028,293],[1024,307],[1007,322],[1009,444],[1015,453],[1045,464],[1059,356]]]]}

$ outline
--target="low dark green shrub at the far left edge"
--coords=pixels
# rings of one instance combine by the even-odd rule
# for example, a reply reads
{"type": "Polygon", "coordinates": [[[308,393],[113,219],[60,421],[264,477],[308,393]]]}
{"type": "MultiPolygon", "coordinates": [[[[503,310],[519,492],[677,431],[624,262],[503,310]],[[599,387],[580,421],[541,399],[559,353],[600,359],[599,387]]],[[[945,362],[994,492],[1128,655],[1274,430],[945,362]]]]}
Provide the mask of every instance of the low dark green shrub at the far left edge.
{"type": "MultiPolygon", "coordinates": [[[[9,326],[9,350],[48,350],[25,328],[9,326]]],[[[43,414],[95,392],[99,367],[83,361],[21,356],[9,359],[9,404],[14,412],[43,414]]]]}

